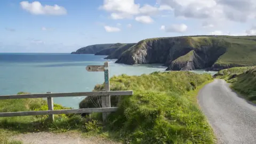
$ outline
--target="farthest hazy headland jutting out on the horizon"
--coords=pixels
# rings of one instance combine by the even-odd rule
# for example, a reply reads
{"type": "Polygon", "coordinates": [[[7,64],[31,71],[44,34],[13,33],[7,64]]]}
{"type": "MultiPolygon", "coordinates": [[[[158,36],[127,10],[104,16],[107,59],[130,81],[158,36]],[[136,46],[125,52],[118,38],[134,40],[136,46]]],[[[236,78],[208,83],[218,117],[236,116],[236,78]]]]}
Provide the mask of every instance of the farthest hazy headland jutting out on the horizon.
{"type": "Polygon", "coordinates": [[[109,48],[113,44],[94,44],[82,47],[75,52],[71,52],[71,54],[95,54],[103,49],[109,48]]]}

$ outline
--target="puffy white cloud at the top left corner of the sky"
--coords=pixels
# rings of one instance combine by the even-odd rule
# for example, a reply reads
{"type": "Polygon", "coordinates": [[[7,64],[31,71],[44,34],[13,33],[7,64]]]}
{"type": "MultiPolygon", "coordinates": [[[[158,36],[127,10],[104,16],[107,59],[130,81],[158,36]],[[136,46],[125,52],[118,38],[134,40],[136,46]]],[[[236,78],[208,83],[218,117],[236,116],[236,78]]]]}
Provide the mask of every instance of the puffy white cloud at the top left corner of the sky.
{"type": "Polygon", "coordinates": [[[64,15],[67,14],[67,10],[63,6],[59,5],[42,5],[40,2],[32,2],[28,1],[20,2],[21,8],[35,15],[64,15]]]}

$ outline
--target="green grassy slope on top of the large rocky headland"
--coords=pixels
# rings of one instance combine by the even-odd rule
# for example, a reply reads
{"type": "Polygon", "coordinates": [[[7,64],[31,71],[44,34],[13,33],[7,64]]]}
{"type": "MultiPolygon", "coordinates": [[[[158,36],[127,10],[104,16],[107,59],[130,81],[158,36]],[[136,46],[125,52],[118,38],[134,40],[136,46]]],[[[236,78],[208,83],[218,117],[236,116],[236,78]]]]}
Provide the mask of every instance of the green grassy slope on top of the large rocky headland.
{"type": "MultiPolygon", "coordinates": [[[[190,46],[200,49],[201,46],[218,45],[226,47],[227,51],[219,57],[215,64],[218,65],[241,65],[250,66],[256,63],[256,41],[252,41],[248,37],[233,37],[233,36],[197,36],[197,37],[185,37],[188,39],[190,46]]],[[[253,37],[254,39],[255,37],[253,37]]],[[[214,48],[215,46],[213,46],[214,48]]]]}

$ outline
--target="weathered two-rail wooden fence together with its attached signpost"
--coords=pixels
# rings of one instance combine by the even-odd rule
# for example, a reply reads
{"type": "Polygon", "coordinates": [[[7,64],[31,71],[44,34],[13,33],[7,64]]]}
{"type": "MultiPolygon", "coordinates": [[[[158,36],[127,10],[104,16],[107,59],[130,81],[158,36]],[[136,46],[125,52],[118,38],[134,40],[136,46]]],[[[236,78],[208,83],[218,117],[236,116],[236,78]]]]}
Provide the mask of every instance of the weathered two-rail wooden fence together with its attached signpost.
{"type": "Polygon", "coordinates": [[[49,115],[51,121],[54,121],[54,114],[81,114],[81,113],[102,113],[103,121],[106,120],[107,115],[116,111],[117,107],[111,107],[110,95],[133,95],[133,91],[110,91],[109,86],[109,66],[105,62],[102,66],[87,66],[87,71],[104,71],[105,90],[100,92],[73,92],[73,93],[41,93],[41,94],[15,94],[15,95],[0,95],[0,100],[6,99],[33,99],[33,98],[47,98],[48,110],[42,111],[18,111],[0,113],[0,117],[11,116],[33,116],[33,115],[49,115]],[[65,109],[54,110],[53,98],[57,97],[81,97],[81,96],[101,96],[101,108],[83,108],[83,109],[65,109]]]}

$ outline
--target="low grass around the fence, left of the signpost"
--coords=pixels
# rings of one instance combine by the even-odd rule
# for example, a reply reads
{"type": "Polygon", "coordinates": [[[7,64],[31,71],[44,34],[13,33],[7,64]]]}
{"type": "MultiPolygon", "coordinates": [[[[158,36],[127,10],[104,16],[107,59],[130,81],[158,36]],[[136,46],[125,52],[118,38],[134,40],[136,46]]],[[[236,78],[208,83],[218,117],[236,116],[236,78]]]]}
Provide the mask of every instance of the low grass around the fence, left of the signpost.
{"type": "MultiPolygon", "coordinates": [[[[24,94],[20,92],[18,94],[24,94]]],[[[43,99],[13,99],[1,100],[0,112],[47,110],[47,101],[43,99]]],[[[54,103],[54,110],[70,109],[54,103]]],[[[10,141],[10,135],[24,132],[66,132],[75,130],[86,133],[87,135],[102,134],[103,125],[99,114],[91,114],[82,117],[79,114],[54,115],[54,122],[50,123],[47,115],[42,116],[17,116],[0,118],[0,143],[19,143],[10,141]],[[93,120],[95,119],[95,121],[93,120]]]]}

